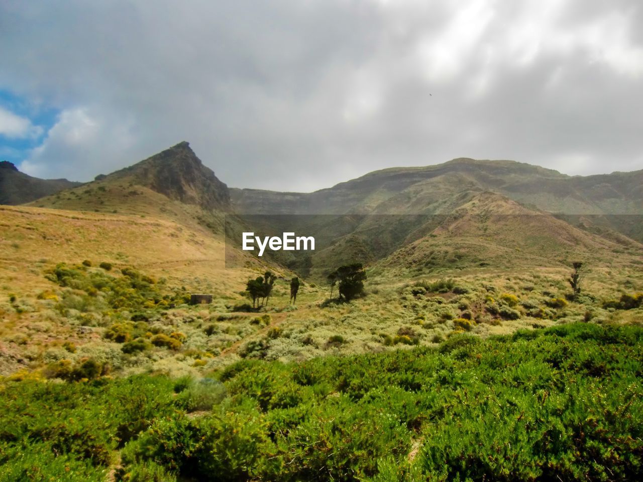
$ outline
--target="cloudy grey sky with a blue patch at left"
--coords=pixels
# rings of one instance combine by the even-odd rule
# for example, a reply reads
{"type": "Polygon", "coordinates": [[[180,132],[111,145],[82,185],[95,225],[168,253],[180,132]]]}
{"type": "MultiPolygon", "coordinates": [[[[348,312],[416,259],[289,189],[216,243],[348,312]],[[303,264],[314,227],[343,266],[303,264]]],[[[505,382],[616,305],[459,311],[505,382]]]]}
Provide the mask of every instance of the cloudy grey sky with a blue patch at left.
{"type": "Polygon", "coordinates": [[[188,141],[233,187],[455,157],[643,169],[640,0],[0,2],[0,160],[89,181],[188,141]]]}

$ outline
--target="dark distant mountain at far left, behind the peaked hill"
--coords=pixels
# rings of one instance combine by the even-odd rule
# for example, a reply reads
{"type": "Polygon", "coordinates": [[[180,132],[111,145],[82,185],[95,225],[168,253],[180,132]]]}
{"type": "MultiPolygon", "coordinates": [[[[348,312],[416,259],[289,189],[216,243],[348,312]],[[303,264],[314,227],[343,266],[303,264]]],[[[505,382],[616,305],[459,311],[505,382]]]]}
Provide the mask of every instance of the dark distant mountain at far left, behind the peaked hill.
{"type": "Polygon", "coordinates": [[[0,161],[0,204],[23,204],[81,184],[67,179],[39,179],[20,172],[13,163],[0,161]]]}

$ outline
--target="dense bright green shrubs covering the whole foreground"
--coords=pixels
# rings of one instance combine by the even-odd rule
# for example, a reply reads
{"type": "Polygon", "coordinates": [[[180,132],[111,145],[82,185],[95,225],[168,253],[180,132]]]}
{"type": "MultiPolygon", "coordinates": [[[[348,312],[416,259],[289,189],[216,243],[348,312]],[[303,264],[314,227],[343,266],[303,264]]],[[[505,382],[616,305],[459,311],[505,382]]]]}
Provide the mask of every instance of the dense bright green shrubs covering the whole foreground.
{"type": "Polygon", "coordinates": [[[642,353],[643,328],[583,323],[215,379],[6,379],[0,479],[638,480],[642,353]]]}

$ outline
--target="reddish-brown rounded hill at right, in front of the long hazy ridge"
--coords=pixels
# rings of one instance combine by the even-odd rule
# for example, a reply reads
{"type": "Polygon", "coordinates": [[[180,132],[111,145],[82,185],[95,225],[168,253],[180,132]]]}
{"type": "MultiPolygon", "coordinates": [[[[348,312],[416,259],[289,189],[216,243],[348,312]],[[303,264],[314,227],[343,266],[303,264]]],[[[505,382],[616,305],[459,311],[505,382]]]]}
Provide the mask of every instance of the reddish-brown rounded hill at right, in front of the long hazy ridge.
{"type": "Polygon", "coordinates": [[[435,217],[429,235],[384,260],[388,266],[471,269],[555,267],[574,260],[632,267],[643,245],[575,228],[545,211],[530,210],[493,192],[478,193],[449,215],[435,217]]]}

